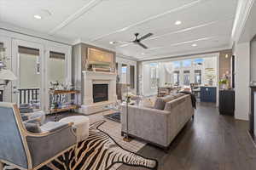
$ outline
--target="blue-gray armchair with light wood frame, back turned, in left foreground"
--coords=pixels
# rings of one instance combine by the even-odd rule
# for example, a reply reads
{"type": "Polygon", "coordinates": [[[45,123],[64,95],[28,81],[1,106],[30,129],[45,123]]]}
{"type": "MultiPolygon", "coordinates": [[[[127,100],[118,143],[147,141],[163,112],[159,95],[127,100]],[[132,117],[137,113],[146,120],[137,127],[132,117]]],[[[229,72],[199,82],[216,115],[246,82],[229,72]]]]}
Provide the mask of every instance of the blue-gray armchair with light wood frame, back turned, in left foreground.
{"type": "Polygon", "coordinates": [[[0,102],[0,170],[3,165],[36,170],[75,147],[73,123],[43,133],[26,130],[15,104],[0,102]]]}

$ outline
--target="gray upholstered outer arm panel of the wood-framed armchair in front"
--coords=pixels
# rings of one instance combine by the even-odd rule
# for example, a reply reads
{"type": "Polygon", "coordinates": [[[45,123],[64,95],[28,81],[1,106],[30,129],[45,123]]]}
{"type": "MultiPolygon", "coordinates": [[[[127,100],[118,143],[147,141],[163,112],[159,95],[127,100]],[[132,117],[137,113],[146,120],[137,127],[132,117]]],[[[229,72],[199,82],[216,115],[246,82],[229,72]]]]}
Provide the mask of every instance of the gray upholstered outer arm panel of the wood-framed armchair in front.
{"type": "Polygon", "coordinates": [[[32,165],[37,167],[44,161],[49,161],[62,151],[76,144],[76,136],[71,124],[55,128],[54,131],[39,134],[29,133],[26,136],[32,165]]]}

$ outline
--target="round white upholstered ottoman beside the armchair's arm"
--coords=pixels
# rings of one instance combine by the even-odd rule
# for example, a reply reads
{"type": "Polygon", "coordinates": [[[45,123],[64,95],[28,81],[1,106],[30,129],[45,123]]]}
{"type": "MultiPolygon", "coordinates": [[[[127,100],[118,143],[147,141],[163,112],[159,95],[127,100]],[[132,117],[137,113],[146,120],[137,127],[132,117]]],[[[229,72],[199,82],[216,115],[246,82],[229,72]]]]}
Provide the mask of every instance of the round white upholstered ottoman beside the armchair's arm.
{"type": "Polygon", "coordinates": [[[77,142],[87,139],[89,136],[89,118],[86,116],[68,116],[59,122],[73,122],[73,127],[77,136],[77,142]]]}

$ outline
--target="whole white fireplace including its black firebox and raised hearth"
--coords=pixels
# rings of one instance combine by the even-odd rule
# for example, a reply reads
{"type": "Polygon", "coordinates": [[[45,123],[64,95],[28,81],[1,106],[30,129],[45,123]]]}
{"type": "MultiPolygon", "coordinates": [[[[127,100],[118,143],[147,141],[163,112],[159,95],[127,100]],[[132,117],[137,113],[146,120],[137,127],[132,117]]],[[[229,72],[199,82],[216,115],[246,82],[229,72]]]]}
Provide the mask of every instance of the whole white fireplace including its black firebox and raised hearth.
{"type": "Polygon", "coordinates": [[[116,73],[100,71],[83,71],[82,73],[83,104],[79,108],[79,113],[94,114],[116,103],[116,73]]]}

